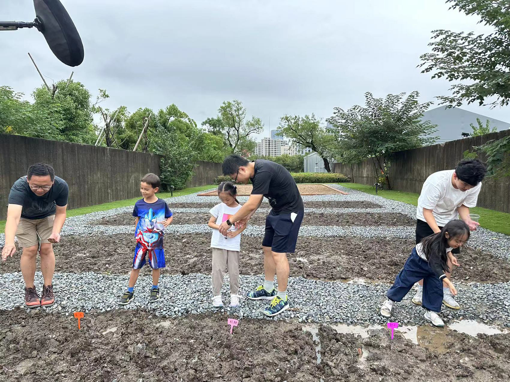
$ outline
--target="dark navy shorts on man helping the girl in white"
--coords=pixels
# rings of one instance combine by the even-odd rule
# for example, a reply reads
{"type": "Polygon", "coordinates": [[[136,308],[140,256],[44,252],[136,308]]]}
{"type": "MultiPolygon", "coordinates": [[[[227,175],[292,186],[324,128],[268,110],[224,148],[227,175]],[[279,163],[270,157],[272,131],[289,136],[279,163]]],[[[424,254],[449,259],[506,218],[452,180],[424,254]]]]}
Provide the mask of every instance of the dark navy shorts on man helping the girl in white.
{"type": "Polygon", "coordinates": [[[296,250],[297,235],[303,221],[304,208],[296,211],[294,220],[291,213],[275,214],[273,210],[266,217],[266,232],[262,245],[271,247],[277,253],[294,253],[296,250]]]}

